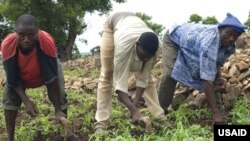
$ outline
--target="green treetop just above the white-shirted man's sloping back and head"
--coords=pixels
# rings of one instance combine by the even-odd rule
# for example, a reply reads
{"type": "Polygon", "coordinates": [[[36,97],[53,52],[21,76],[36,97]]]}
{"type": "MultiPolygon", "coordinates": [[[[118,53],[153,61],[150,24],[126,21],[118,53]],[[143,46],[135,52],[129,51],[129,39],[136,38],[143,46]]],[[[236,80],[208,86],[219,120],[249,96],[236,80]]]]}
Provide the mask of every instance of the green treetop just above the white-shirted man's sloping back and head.
{"type": "Polygon", "coordinates": [[[144,14],[137,12],[136,15],[141,18],[149,28],[151,28],[159,37],[162,37],[162,31],[165,29],[165,27],[161,24],[153,23],[151,21],[152,17],[144,14]]]}

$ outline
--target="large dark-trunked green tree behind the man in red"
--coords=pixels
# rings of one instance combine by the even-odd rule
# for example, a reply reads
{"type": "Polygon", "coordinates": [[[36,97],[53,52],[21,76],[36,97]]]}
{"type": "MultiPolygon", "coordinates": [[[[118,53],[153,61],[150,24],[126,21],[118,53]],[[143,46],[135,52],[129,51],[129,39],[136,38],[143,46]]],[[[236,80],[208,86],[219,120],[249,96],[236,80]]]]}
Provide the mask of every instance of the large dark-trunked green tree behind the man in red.
{"type": "MultiPolygon", "coordinates": [[[[113,0],[118,3],[126,0],[113,0]]],[[[0,15],[9,24],[23,13],[34,15],[39,27],[52,34],[63,60],[72,59],[77,35],[84,32],[86,12],[105,14],[112,9],[111,0],[1,0],[0,15]]]]}

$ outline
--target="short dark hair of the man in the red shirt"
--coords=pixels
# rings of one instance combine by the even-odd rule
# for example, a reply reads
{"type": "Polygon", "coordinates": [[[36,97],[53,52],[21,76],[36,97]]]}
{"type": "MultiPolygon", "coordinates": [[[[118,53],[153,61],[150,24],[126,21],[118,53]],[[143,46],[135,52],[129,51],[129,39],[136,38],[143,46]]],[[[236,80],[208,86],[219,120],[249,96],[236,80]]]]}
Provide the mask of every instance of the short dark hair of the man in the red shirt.
{"type": "Polygon", "coordinates": [[[19,16],[16,20],[16,29],[18,29],[20,25],[34,26],[34,28],[37,28],[37,21],[34,16],[30,14],[23,14],[19,16]]]}

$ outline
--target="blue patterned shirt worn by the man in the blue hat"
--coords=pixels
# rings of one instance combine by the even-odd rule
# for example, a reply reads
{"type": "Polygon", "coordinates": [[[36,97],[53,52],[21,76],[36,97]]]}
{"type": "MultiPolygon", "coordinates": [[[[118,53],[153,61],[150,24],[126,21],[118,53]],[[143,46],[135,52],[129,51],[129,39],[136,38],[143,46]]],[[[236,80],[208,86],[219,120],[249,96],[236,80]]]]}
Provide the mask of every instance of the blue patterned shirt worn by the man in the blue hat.
{"type": "Polygon", "coordinates": [[[175,26],[170,38],[179,45],[172,78],[198,90],[202,90],[202,80],[215,80],[217,67],[235,52],[235,46],[220,47],[216,25],[185,23],[175,26]]]}

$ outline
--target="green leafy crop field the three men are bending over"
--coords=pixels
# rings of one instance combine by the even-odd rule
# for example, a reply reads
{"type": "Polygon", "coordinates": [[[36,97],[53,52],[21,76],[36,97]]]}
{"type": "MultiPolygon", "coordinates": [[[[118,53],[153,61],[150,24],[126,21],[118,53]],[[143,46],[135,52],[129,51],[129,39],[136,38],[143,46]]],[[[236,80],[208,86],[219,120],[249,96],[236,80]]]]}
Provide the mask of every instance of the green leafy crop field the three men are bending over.
{"type": "MultiPolygon", "coordinates": [[[[96,79],[99,71],[64,69],[67,77],[79,78],[83,76],[96,79]]],[[[175,125],[174,128],[167,128],[160,123],[153,122],[153,131],[145,132],[138,125],[131,123],[128,110],[121,104],[116,96],[113,96],[113,110],[110,119],[108,133],[94,135],[94,115],[96,110],[96,92],[79,91],[71,88],[66,89],[68,93],[69,109],[68,119],[72,129],[83,141],[212,141],[213,124],[211,113],[207,106],[190,108],[181,105],[177,110],[170,110],[167,118],[175,125]]],[[[3,88],[0,88],[0,101],[2,101],[3,88]]],[[[62,125],[54,124],[54,109],[48,100],[44,88],[29,89],[27,91],[31,99],[39,109],[36,118],[29,117],[22,106],[16,123],[16,141],[52,141],[64,135],[62,125]]],[[[225,113],[229,124],[250,124],[249,99],[241,95],[234,99],[232,109],[225,113]]],[[[151,116],[143,101],[140,103],[141,112],[151,116]]],[[[5,120],[3,109],[0,109],[0,140],[6,138],[5,120]]]]}

